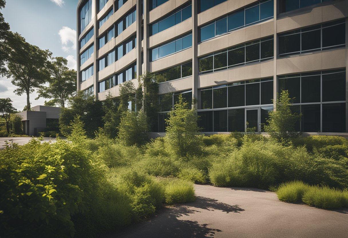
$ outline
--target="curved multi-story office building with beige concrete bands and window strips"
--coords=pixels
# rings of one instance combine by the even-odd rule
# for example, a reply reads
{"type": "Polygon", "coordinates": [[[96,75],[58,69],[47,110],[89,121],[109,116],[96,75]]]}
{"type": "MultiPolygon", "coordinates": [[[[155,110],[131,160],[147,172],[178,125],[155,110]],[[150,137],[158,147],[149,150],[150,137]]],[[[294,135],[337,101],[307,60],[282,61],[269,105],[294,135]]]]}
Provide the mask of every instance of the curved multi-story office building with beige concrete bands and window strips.
{"type": "Polygon", "coordinates": [[[155,72],[159,132],[179,94],[204,132],[262,131],[281,90],[302,132],[347,132],[347,0],[80,0],[77,15],[77,89],[105,100],[155,72]]]}

